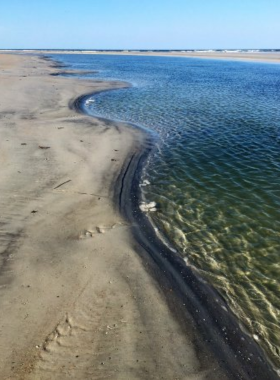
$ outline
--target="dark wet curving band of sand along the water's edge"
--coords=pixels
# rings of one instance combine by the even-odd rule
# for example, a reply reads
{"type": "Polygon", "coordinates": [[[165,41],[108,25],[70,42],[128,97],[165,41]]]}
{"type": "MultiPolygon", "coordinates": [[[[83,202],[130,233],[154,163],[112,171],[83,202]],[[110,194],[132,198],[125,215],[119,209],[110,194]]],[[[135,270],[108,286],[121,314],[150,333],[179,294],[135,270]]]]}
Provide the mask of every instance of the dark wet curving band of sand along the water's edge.
{"type": "MultiPolygon", "coordinates": [[[[123,82],[123,88],[129,84],[123,82]]],[[[105,91],[113,91],[107,89],[105,91]]],[[[100,91],[104,92],[104,91],[100,91]]],[[[94,116],[84,106],[87,98],[98,93],[88,93],[74,99],[69,107],[77,113],[86,114],[100,120],[115,123],[114,120],[94,116]]],[[[277,372],[265,355],[262,348],[245,332],[234,313],[228,308],[220,293],[206,282],[194,268],[173,250],[172,244],[167,246],[156,234],[148,216],[140,210],[141,174],[148,156],[153,149],[152,132],[149,135],[141,127],[128,122],[128,126],[139,128],[145,134],[144,143],[127,158],[117,178],[114,201],[120,214],[132,224],[131,232],[142,249],[159,268],[160,273],[173,285],[173,292],[182,301],[195,321],[204,342],[214,352],[218,362],[233,379],[244,380],[279,380],[277,372]]],[[[144,253],[145,255],[145,253],[144,253]]],[[[164,278],[158,281],[164,281],[164,278]]]]}

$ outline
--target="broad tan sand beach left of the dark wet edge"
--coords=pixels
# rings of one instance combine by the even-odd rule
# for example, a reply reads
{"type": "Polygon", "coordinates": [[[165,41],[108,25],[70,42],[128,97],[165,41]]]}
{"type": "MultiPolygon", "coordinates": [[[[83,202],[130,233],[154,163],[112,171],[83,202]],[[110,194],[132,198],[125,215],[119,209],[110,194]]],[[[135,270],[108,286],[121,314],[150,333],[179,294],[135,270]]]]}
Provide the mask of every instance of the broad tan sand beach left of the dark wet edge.
{"type": "Polygon", "coordinates": [[[142,133],[69,108],[123,85],[50,66],[0,54],[1,380],[226,379],[113,207],[142,133]]]}

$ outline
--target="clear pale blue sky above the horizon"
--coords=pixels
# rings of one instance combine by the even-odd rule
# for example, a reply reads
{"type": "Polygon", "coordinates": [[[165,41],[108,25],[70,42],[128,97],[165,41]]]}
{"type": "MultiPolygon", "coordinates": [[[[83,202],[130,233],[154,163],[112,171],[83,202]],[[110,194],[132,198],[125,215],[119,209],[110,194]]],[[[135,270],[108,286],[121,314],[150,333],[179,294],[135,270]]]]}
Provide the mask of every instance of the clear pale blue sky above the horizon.
{"type": "Polygon", "coordinates": [[[0,0],[0,48],[280,48],[280,0],[0,0]]]}

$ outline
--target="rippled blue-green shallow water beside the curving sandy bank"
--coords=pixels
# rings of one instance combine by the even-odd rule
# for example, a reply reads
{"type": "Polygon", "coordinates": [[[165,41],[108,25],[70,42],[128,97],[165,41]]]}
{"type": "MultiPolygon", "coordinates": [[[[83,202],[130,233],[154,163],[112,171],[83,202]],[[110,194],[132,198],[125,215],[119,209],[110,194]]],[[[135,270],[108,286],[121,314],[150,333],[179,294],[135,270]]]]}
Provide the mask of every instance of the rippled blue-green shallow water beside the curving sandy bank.
{"type": "Polygon", "coordinates": [[[280,65],[54,58],[133,84],[94,96],[89,112],[157,134],[143,174],[154,223],[280,367],[280,65]]]}

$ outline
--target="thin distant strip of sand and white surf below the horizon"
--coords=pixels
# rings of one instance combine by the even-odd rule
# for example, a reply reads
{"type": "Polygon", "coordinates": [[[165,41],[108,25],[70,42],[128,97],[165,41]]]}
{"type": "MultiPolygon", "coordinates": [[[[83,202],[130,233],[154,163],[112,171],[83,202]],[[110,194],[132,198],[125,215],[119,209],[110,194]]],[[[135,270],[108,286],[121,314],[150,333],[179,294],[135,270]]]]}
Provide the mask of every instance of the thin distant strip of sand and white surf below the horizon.
{"type": "Polygon", "coordinates": [[[238,61],[254,61],[266,63],[280,63],[280,49],[272,50],[47,50],[23,49],[0,50],[0,53],[35,53],[35,54],[96,54],[96,55],[135,55],[159,57],[187,57],[203,59],[223,59],[238,61]]]}

